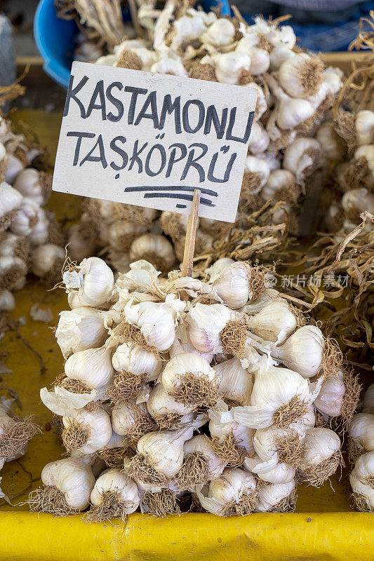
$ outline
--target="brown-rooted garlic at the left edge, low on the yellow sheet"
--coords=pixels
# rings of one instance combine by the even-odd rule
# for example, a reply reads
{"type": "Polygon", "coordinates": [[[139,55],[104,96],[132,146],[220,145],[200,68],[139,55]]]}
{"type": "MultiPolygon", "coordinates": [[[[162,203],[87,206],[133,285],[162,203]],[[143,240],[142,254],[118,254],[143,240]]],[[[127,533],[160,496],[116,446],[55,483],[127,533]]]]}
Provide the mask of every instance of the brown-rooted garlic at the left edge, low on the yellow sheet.
{"type": "MultiPolygon", "coordinates": [[[[27,452],[27,442],[40,431],[31,417],[20,419],[11,411],[13,399],[0,398],[0,472],[7,461],[16,460],[27,452]]],[[[0,477],[1,482],[1,477],[0,477]]],[[[0,499],[11,504],[8,496],[1,491],[0,499]]]]}

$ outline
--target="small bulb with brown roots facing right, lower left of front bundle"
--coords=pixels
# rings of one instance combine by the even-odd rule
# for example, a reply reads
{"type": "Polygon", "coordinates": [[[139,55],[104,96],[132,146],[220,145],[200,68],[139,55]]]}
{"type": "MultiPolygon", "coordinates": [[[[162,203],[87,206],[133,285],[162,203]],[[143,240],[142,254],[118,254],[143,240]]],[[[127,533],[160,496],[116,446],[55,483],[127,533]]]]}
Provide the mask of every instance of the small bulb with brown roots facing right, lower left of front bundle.
{"type": "Polygon", "coordinates": [[[142,435],[154,430],[156,423],[149,416],[145,403],[136,403],[134,399],[129,399],[114,405],[112,428],[116,434],[127,436],[131,442],[137,442],[142,435]]]}

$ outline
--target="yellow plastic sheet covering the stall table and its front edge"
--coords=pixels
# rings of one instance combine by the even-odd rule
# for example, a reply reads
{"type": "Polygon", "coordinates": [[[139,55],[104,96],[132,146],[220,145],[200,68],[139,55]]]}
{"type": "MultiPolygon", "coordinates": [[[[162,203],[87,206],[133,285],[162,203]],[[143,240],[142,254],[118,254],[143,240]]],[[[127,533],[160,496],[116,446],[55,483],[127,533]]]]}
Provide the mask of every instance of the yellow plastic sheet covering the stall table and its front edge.
{"type": "MultiPolygon", "coordinates": [[[[55,147],[60,119],[41,112],[24,112],[44,144],[55,147]]],[[[52,149],[53,151],[53,149],[52,149]]],[[[53,194],[49,208],[59,218],[79,215],[79,198],[53,194]]],[[[4,361],[12,374],[3,381],[18,391],[20,414],[34,414],[43,428],[51,413],[41,404],[39,388],[49,386],[62,372],[63,360],[51,326],[67,309],[63,290],[46,292],[40,282],[29,283],[16,295],[13,318],[26,318],[20,334],[39,353],[46,365],[41,373],[36,355],[13,331],[1,340],[4,361]],[[48,326],[29,317],[34,303],[53,311],[48,326]]],[[[47,425],[47,428],[48,425],[47,425]]],[[[62,457],[64,450],[55,432],[48,430],[29,443],[25,457],[4,466],[1,486],[13,504],[25,501],[30,489],[41,485],[41,469],[62,457]]],[[[340,474],[339,474],[340,475],[340,474]]],[[[297,513],[253,514],[245,518],[218,518],[186,514],[156,520],[133,514],[128,522],[88,525],[80,516],[53,518],[28,513],[27,506],[0,503],[0,561],[373,561],[373,515],[349,509],[347,472],[321,489],[298,488],[297,513]]]]}

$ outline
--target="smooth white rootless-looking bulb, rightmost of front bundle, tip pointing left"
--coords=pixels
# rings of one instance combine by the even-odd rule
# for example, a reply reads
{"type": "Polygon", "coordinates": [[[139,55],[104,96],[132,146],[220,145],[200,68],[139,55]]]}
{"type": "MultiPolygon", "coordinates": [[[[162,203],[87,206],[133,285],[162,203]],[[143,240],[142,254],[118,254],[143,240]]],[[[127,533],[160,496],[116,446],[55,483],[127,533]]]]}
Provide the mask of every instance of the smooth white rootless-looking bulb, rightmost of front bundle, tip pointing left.
{"type": "Polygon", "coordinates": [[[273,349],[272,357],[280,360],[290,370],[299,372],[304,378],[318,374],[323,360],[323,334],[319,327],[299,327],[286,342],[273,349]]]}

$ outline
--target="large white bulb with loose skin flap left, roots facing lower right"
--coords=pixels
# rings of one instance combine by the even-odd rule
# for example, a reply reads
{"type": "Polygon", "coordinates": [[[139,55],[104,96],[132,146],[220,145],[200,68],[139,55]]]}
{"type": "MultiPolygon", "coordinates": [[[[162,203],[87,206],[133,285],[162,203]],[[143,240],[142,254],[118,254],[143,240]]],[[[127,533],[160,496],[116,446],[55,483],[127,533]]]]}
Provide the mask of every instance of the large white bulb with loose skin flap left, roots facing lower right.
{"type": "Polygon", "coordinates": [[[234,419],[251,428],[266,428],[272,424],[287,428],[308,412],[319,388],[320,384],[309,384],[293,370],[260,367],[255,374],[251,405],[234,407],[234,419]]]}

